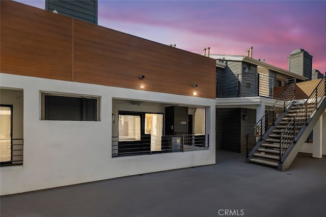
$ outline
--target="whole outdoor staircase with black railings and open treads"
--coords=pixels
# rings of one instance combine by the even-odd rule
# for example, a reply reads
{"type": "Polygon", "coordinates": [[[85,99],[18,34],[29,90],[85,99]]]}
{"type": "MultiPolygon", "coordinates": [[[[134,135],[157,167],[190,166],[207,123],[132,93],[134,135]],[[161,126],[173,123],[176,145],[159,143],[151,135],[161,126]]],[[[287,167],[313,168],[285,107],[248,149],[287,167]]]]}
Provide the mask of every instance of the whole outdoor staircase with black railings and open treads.
{"type": "Polygon", "coordinates": [[[304,100],[292,84],[247,134],[246,162],[287,170],[326,108],[325,93],[325,77],[304,100]]]}

